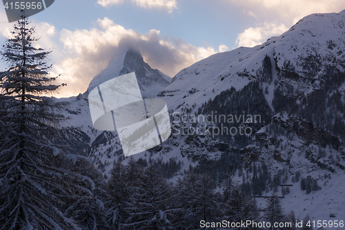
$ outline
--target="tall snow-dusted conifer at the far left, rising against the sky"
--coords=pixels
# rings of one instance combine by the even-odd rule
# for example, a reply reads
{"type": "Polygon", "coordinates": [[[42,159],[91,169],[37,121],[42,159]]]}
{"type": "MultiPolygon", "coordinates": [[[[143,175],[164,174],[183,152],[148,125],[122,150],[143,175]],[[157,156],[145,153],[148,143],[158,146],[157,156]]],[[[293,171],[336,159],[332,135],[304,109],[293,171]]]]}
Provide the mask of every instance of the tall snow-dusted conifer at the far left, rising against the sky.
{"type": "Polygon", "coordinates": [[[72,135],[49,93],[61,86],[49,77],[48,55],[34,46],[24,16],[0,55],[0,229],[79,229],[62,211],[77,195],[91,193],[90,178],[64,168],[66,155],[52,140],[72,135]]]}

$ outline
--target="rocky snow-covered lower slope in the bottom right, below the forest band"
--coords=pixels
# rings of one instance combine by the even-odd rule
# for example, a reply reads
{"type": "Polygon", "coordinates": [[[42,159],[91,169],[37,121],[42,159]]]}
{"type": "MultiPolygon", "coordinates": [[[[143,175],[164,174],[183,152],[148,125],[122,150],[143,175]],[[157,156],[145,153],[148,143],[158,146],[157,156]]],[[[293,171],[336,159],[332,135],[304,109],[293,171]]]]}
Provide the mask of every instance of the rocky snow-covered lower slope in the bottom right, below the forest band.
{"type": "MultiPolygon", "coordinates": [[[[279,128],[284,126],[289,126],[289,128],[282,128],[283,133],[278,135],[277,132],[273,132],[277,128],[273,124],[262,128],[255,135],[256,144],[246,147],[248,151],[244,157],[245,162],[250,162],[252,154],[260,151],[261,154],[258,156],[256,164],[265,162],[270,173],[273,174],[284,169],[288,171],[287,181],[283,184],[293,184],[289,187],[290,193],[283,195],[280,191],[281,187],[277,192],[277,195],[284,196],[281,202],[286,213],[295,211],[301,219],[308,214],[311,216],[311,220],[344,220],[345,161],[342,147],[339,147],[341,143],[337,139],[324,135],[324,131],[295,132],[295,127],[291,124],[297,121],[299,131],[303,131],[308,126],[308,122],[294,117],[289,118],[286,114],[276,115],[274,124],[279,124],[279,128]],[[284,133],[284,131],[290,131],[290,133],[284,133]],[[312,135],[313,138],[309,138],[309,135],[312,135]],[[324,151],[324,156],[320,157],[319,151],[324,151]],[[341,167],[338,167],[339,165],[341,167]],[[300,178],[310,176],[315,179],[320,190],[312,191],[309,194],[302,191],[300,181],[293,180],[297,171],[300,173],[300,178]],[[335,215],[335,218],[330,218],[331,214],[335,215]]],[[[242,180],[242,178],[237,177],[235,180],[242,180]]],[[[264,192],[263,195],[269,196],[271,193],[272,191],[264,192]]],[[[266,207],[266,198],[255,198],[255,200],[262,209],[266,207]]]]}

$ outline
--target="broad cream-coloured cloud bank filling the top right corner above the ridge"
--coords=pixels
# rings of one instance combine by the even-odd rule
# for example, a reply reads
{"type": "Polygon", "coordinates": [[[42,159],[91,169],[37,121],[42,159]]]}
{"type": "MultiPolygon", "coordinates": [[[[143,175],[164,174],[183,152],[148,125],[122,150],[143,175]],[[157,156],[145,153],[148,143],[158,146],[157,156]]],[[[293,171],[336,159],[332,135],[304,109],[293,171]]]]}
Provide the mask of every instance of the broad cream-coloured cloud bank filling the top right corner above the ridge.
{"type": "MultiPolygon", "coordinates": [[[[255,17],[255,26],[237,35],[238,46],[253,47],[266,39],[281,35],[306,15],[316,12],[339,12],[345,8],[343,0],[220,0],[243,8],[244,15],[255,17]]],[[[250,20],[250,19],[248,19],[250,20]]]]}

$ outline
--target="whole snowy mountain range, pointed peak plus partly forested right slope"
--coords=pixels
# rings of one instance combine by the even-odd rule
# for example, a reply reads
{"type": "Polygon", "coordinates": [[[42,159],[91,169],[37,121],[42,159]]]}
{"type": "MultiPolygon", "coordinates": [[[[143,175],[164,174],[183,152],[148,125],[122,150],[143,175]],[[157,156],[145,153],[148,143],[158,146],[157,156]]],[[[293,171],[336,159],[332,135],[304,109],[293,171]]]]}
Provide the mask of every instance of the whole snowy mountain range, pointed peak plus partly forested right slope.
{"type": "MultiPolygon", "coordinates": [[[[148,68],[141,55],[124,48],[108,68],[92,79],[88,90],[135,71],[143,95],[155,97],[160,91],[158,96],[166,101],[171,113],[263,113],[264,122],[257,124],[256,133],[248,137],[220,140],[209,135],[172,135],[160,148],[134,157],[181,160],[184,164],[178,177],[197,160],[216,159],[226,152],[224,149],[238,151],[244,168],[266,162],[273,174],[288,169],[288,183],[293,186],[282,199],[286,213],[293,210],[301,219],[309,214],[312,220],[330,220],[330,213],[334,213],[335,219],[345,220],[344,35],[345,10],[309,15],[262,45],[198,61],[181,70],[171,84],[159,70],[148,68]],[[233,91],[228,91],[232,87],[233,91]],[[318,156],[318,151],[324,156],[318,156]],[[305,194],[299,182],[291,182],[297,171],[301,178],[311,176],[317,180],[322,189],[305,194]],[[332,176],[325,178],[325,174],[332,176]]],[[[86,95],[66,99],[71,103],[66,115],[72,117],[70,124],[83,126],[91,139],[90,159],[104,175],[109,175],[112,162],[124,158],[119,138],[92,127],[86,95]]],[[[127,161],[124,159],[124,164],[127,161]]],[[[257,202],[261,207],[266,205],[264,198],[257,198],[257,202]]]]}

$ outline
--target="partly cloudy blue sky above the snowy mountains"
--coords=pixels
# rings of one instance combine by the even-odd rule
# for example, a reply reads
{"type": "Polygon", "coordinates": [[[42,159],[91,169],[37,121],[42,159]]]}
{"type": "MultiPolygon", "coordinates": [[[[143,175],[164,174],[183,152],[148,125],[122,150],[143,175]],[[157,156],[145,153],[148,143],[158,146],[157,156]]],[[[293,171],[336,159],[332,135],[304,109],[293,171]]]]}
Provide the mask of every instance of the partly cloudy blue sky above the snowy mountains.
{"type": "MultiPolygon", "coordinates": [[[[67,97],[85,92],[119,44],[173,77],[216,52],[261,44],[311,13],[344,9],[344,0],[55,0],[30,20],[38,45],[53,48],[50,73],[68,84],[55,96],[67,97]]],[[[12,26],[1,6],[1,44],[12,26]]]]}

